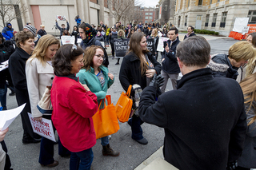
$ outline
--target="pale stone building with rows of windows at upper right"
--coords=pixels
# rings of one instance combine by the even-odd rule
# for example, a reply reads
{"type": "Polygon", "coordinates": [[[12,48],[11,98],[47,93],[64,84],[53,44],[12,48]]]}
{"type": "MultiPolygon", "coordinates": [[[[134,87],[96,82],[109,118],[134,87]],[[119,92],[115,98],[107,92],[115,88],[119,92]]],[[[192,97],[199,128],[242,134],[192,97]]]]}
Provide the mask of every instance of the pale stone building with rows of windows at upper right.
{"type": "Polygon", "coordinates": [[[181,29],[214,30],[229,35],[235,18],[256,23],[256,0],[176,0],[174,25],[181,29]]]}

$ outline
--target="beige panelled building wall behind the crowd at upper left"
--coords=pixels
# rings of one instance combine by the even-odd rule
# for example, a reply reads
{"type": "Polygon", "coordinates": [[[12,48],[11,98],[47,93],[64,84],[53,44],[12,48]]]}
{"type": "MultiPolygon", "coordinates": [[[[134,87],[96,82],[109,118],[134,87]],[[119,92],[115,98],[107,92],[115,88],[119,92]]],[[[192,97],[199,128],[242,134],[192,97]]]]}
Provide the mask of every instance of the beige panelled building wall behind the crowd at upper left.
{"type": "MultiPolygon", "coordinates": [[[[10,0],[15,1],[15,0],[10,0]]],[[[20,0],[18,6],[26,8],[22,18],[15,18],[11,21],[14,30],[22,30],[26,22],[31,22],[33,26],[40,30],[40,25],[45,25],[48,34],[58,34],[55,29],[56,15],[65,16],[70,23],[70,32],[76,26],[74,18],[79,15],[82,22],[87,22],[97,26],[103,21],[107,26],[115,24],[112,14],[111,4],[108,0],[20,0]]],[[[13,9],[14,10],[14,9],[13,9]]],[[[20,9],[22,10],[22,9],[20,9]]],[[[13,11],[15,13],[15,10],[13,11]]],[[[66,22],[58,22],[58,25],[66,22]]],[[[2,21],[0,21],[2,26],[2,21]]]]}

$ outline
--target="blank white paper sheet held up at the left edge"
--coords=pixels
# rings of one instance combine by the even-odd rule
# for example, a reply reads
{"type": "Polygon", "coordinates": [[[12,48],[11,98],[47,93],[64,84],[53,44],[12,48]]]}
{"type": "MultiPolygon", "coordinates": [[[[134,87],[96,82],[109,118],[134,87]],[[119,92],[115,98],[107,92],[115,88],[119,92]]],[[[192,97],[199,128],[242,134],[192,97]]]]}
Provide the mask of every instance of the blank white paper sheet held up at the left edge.
{"type": "Polygon", "coordinates": [[[0,112],[0,128],[1,131],[6,130],[10,126],[10,124],[14,121],[16,117],[18,117],[19,113],[22,112],[24,109],[26,103],[19,106],[18,108],[15,109],[10,109],[10,110],[3,110],[0,112]]]}

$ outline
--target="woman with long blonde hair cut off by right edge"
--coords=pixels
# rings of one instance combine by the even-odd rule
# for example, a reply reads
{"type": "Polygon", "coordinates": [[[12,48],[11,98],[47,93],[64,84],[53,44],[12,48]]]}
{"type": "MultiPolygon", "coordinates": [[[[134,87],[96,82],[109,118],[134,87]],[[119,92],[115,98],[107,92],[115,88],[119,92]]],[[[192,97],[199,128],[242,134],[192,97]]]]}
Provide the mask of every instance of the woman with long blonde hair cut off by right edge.
{"type": "Polygon", "coordinates": [[[256,73],[246,77],[241,83],[245,98],[247,116],[246,140],[242,156],[238,159],[238,170],[256,168],[256,73]]]}

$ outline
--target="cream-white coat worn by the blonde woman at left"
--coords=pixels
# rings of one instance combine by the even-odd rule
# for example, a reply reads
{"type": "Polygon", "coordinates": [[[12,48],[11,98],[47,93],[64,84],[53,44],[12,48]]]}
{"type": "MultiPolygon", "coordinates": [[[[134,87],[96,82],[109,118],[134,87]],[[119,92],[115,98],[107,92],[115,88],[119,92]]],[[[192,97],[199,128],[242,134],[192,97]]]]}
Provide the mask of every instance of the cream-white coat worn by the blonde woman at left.
{"type": "Polygon", "coordinates": [[[46,86],[52,85],[54,68],[46,63],[45,66],[38,60],[31,58],[26,61],[26,84],[30,96],[31,112],[33,117],[42,117],[37,105],[45,92],[46,86]]]}

